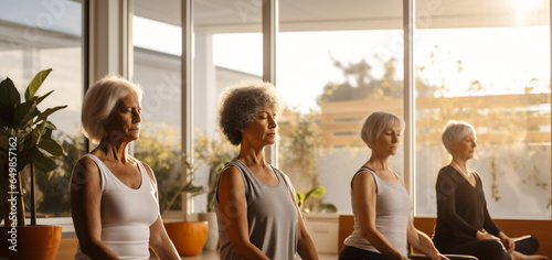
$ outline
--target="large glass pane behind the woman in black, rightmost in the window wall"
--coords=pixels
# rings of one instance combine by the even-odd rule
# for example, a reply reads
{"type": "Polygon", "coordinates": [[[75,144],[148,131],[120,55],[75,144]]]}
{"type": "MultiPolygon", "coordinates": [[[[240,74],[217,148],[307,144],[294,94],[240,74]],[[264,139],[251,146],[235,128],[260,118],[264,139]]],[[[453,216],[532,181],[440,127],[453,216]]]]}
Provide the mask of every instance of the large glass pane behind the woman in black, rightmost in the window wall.
{"type": "Polygon", "coordinates": [[[492,217],[549,218],[550,2],[416,1],[415,214],[436,215],[444,126],[476,128],[492,217]]]}

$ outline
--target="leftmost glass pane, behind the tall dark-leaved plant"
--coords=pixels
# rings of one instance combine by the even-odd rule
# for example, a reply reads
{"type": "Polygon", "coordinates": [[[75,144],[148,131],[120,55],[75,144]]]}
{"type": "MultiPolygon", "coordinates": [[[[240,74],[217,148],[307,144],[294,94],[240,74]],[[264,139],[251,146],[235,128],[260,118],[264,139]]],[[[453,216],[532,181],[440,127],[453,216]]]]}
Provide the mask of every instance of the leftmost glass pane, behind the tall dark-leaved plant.
{"type": "MultiPolygon", "coordinates": [[[[0,2],[0,78],[10,77],[23,94],[36,73],[52,68],[36,95],[55,91],[39,105],[39,109],[68,106],[47,118],[57,127],[52,133],[53,139],[62,144],[67,155],[56,160],[59,167],[52,172],[35,171],[38,217],[70,216],[71,171],[85,152],[79,121],[83,99],[82,13],[81,1],[0,2]]],[[[22,174],[28,217],[29,175],[28,170],[22,174]]]]}

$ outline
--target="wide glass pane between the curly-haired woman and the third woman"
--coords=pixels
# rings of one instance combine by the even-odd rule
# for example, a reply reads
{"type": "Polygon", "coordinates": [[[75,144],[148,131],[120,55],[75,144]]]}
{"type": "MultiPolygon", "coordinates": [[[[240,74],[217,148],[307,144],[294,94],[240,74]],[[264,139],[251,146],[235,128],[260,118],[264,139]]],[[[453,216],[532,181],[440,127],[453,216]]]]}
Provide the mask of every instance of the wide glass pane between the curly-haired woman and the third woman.
{"type": "MultiPolygon", "coordinates": [[[[370,158],[359,130],[371,112],[403,113],[402,1],[280,1],[279,167],[296,189],[323,187],[307,212],[352,213],[350,182],[370,158]]],[[[403,172],[403,150],[390,160],[403,172]]]]}

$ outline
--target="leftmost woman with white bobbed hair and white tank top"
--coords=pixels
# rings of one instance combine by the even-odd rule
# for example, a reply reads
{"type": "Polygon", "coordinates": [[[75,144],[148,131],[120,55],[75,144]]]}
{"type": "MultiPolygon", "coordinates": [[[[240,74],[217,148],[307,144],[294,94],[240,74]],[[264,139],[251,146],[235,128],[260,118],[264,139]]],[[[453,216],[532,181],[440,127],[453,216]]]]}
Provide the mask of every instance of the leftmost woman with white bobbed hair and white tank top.
{"type": "Polygon", "coordinates": [[[106,76],[86,93],[84,134],[98,147],[71,176],[71,214],[78,238],[75,259],[180,259],[167,236],[151,169],[127,153],[140,133],[142,90],[106,76]]]}

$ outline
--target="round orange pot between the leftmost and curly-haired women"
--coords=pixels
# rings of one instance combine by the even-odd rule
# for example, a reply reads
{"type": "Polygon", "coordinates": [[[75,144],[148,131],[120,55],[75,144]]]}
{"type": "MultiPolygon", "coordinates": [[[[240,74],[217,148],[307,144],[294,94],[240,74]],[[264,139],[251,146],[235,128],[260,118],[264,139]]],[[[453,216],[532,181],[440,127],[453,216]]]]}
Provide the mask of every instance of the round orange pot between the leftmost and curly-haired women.
{"type": "Polygon", "coordinates": [[[164,229],[180,256],[195,256],[205,245],[208,221],[166,223],[164,229]]]}

